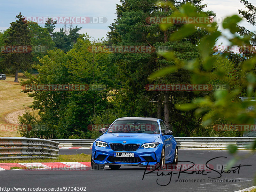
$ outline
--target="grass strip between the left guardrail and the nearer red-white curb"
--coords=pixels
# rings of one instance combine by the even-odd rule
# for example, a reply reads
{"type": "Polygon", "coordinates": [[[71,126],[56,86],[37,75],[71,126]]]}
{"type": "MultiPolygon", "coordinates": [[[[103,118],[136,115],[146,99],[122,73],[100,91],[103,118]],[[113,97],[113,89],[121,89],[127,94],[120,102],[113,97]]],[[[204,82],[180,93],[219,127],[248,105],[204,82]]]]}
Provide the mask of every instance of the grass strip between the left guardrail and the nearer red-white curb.
{"type": "Polygon", "coordinates": [[[60,155],[58,159],[3,159],[0,163],[91,162],[91,155],[60,155]]]}

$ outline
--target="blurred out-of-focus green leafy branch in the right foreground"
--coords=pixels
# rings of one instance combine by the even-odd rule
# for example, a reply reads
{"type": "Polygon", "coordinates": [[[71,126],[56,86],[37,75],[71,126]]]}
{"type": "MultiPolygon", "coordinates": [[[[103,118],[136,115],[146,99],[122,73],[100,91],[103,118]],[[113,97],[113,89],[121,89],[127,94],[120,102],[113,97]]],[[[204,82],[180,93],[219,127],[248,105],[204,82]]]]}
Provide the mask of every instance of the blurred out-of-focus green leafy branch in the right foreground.
{"type": "MultiPolygon", "coordinates": [[[[173,12],[170,17],[207,17],[205,13],[196,12],[196,8],[191,4],[184,4],[179,10],[173,12]]],[[[255,36],[254,34],[240,36],[237,34],[239,31],[239,23],[242,20],[238,15],[232,15],[227,17],[222,23],[222,27],[229,31],[230,37],[227,38],[217,29],[216,22],[209,23],[186,23],[178,31],[172,33],[169,41],[177,41],[177,39],[183,39],[188,37],[198,28],[202,28],[208,33],[200,39],[198,43],[198,50],[200,52],[200,57],[193,60],[181,60],[179,59],[174,51],[160,52],[159,55],[173,62],[173,65],[165,67],[158,70],[156,73],[152,73],[148,79],[154,80],[159,77],[163,77],[166,74],[172,74],[177,70],[187,70],[191,73],[191,83],[192,84],[207,84],[214,70],[214,64],[216,62],[216,57],[212,55],[214,50],[214,45],[218,38],[226,38],[230,46],[239,46],[243,48],[244,46],[252,46],[250,42],[255,36]]],[[[174,25],[173,23],[161,24],[162,30],[167,30],[169,27],[174,25]]],[[[242,50],[242,49],[240,49],[242,50]]],[[[226,59],[229,53],[224,52],[220,54],[220,57],[226,59]]],[[[240,55],[243,55],[241,52],[240,55]]],[[[239,84],[234,84],[234,86],[227,87],[226,90],[215,90],[212,96],[206,95],[202,97],[196,97],[192,102],[176,104],[175,108],[180,111],[191,111],[197,117],[202,116],[202,124],[204,126],[211,125],[212,122],[217,121],[221,118],[232,121],[236,124],[254,124],[254,119],[256,116],[256,102],[244,101],[241,102],[239,96],[241,92],[244,91],[244,96],[252,97],[256,96],[255,84],[256,84],[256,56],[255,53],[251,54],[250,57],[246,57],[239,63],[239,84]],[[248,110],[250,107],[252,110],[248,110]]],[[[216,78],[223,80],[227,78],[227,71],[225,66],[220,66],[215,73],[216,78]]],[[[195,93],[196,94],[196,93],[195,93]]],[[[256,148],[256,141],[251,146],[250,149],[256,148]]],[[[237,148],[235,146],[229,146],[228,150],[234,153],[237,148]]],[[[236,162],[232,160],[233,165],[236,162]]]]}

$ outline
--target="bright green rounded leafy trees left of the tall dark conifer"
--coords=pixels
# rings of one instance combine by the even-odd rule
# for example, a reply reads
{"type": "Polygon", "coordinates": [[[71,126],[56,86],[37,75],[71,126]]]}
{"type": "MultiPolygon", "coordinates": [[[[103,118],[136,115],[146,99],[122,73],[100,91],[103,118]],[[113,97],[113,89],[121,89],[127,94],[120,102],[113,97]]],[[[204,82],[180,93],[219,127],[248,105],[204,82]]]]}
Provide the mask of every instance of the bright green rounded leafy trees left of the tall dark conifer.
{"type": "MultiPolygon", "coordinates": [[[[48,138],[83,138],[95,136],[87,130],[91,124],[92,115],[100,114],[108,108],[108,97],[116,85],[115,66],[108,53],[93,53],[90,47],[101,46],[102,42],[91,42],[88,35],[77,39],[73,49],[65,53],[63,50],[50,50],[39,59],[40,65],[33,65],[39,72],[35,77],[26,73],[29,80],[21,84],[86,84],[87,91],[35,91],[28,93],[33,97],[30,106],[39,110],[36,122],[46,125],[46,132],[36,133],[36,137],[48,138]],[[94,89],[100,85],[100,89],[94,89]],[[104,85],[104,86],[101,86],[104,85]],[[96,86],[97,87],[97,86],[96,86]]],[[[99,87],[98,87],[99,88],[99,87]]],[[[28,90],[23,90],[28,92],[28,90]]],[[[33,115],[21,117],[22,122],[28,122],[33,115]]],[[[35,121],[35,120],[34,120],[35,121]]],[[[23,123],[24,124],[24,123],[23,123]]],[[[33,127],[32,127],[33,128],[33,127]]],[[[29,134],[26,131],[24,135],[29,134]]]]}

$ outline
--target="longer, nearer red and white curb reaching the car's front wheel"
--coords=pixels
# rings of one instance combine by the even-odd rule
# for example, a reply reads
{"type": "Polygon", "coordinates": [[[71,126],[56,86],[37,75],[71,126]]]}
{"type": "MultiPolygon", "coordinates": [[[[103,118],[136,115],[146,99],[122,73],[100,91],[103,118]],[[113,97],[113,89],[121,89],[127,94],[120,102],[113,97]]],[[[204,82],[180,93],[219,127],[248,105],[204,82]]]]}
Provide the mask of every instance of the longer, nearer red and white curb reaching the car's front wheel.
{"type": "Polygon", "coordinates": [[[84,168],[91,167],[91,162],[54,162],[54,163],[0,163],[0,170],[10,170],[11,167],[20,168],[43,168],[43,169],[53,169],[53,168],[84,168]]]}

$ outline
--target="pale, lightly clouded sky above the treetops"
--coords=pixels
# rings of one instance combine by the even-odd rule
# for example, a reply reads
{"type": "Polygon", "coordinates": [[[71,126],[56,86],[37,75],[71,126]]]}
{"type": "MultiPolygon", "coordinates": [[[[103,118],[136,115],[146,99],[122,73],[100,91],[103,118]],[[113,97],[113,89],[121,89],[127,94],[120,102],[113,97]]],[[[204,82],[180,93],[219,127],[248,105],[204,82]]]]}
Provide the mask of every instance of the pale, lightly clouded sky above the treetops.
{"type": "MultiPolygon", "coordinates": [[[[256,5],[256,0],[249,0],[256,5]]],[[[244,4],[239,3],[240,0],[204,0],[204,4],[208,4],[205,10],[212,10],[217,17],[225,17],[233,14],[238,14],[237,10],[246,10],[244,4]]],[[[105,18],[103,23],[77,23],[72,24],[82,27],[80,33],[88,33],[92,38],[98,39],[106,37],[109,31],[108,26],[116,19],[116,4],[121,4],[119,0],[0,0],[0,30],[6,30],[10,27],[10,23],[15,21],[15,16],[19,12],[25,17],[96,17],[105,18]]],[[[38,18],[37,18],[38,19],[38,18]]],[[[88,21],[88,19],[86,19],[88,21]]],[[[247,29],[256,31],[255,27],[245,21],[239,23],[247,29]]],[[[44,26],[44,24],[39,24],[44,26]]],[[[64,24],[57,24],[57,31],[63,27],[64,24]]],[[[68,26],[69,27],[69,26],[68,26]]],[[[220,30],[227,36],[227,30],[220,26],[220,30]]],[[[219,39],[216,45],[228,45],[225,39],[219,39]]]]}

